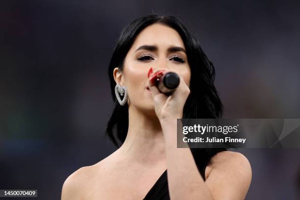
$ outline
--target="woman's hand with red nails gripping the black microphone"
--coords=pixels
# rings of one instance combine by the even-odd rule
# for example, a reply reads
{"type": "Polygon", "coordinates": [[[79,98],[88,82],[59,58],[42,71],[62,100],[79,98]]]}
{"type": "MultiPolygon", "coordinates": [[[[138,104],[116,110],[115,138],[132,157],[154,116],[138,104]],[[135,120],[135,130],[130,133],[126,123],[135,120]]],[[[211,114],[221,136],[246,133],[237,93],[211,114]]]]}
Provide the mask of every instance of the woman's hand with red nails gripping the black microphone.
{"type": "MultiPolygon", "coordinates": [[[[168,72],[175,71],[165,70],[161,74],[158,74],[157,77],[161,77],[168,72]]],[[[182,118],[183,107],[190,94],[190,88],[185,83],[183,77],[177,73],[180,78],[179,85],[170,96],[167,96],[164,93],[161,93],[156,85],[150,81],[150,78],[154,74],[155,73],[149,75],[148,86],[154,101],[154,109],[158,119],[161,121],[166,118],[182,118]]]]}

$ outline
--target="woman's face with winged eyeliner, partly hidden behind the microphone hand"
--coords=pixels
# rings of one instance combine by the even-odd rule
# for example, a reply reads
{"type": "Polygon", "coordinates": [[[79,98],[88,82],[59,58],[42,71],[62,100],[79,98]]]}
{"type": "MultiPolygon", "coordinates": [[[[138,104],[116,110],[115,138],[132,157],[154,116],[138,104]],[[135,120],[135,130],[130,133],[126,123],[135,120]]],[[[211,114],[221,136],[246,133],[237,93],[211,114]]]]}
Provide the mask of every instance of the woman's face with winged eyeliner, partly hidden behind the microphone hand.
{"type": "Polygon", "coordinates": [[[127,88],[129,108],[134,106],[154,112],[153,100],[147,90],[151,67],[153,72],[172,70],[190,86],[191,71],[185,47],[175,29],[162,24],[147,26],[137,35],[127,53],[123,74],[118,72],[118,68],[114,69],[116,82],[127,88]]]}

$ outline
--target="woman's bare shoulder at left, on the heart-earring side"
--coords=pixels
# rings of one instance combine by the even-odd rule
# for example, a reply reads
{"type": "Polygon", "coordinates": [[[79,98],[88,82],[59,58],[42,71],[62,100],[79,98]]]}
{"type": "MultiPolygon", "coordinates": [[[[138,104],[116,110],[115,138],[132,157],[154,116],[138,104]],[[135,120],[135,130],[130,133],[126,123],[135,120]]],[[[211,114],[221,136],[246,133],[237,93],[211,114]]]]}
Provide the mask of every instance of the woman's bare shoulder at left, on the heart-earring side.
{"type": "Polygon", "coordinates": [[[61,200],[83,200],[85,183],[92,176],[94,168],[94,166],[81,167],[69,175],[62,187],[61,200]]]}

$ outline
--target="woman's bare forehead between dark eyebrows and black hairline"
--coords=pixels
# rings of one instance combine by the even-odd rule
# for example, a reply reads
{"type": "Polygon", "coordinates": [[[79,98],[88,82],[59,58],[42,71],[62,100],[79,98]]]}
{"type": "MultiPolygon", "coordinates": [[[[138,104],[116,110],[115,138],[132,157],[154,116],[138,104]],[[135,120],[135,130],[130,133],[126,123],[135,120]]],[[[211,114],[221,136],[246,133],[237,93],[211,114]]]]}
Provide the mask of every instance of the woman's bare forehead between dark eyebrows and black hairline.
{"type": "Polygon", "coordinates": [[[144,28],[136,37],[133,47],[141,45],[161,45],[166,47],[178,46],[184,48],[183,41],[179,33],[170,26],[163,24],[153,24],[144,28]]]}

